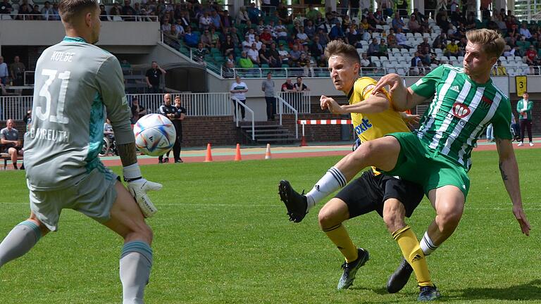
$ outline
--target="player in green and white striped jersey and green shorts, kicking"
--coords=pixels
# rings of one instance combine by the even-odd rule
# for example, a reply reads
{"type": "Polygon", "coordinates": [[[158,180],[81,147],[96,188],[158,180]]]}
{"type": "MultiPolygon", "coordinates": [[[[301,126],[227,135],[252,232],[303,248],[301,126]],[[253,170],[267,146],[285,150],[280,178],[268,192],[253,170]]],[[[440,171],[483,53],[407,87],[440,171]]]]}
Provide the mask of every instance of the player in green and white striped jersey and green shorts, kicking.
{"type": "MultiPolygon", "coordinates": [[[[367,141],[334,166],[347,182],[373,165],[389,175],[421,184],[437,213],[421,240],[425,255],[449,238],[459,224],[470,184],[467,172],[471,151],[490,123],[495,128],[499,170],[513,213],[523,234],[530,232],[511,144],[511,105],[490,80],[490,70],[502,54],[505,41],[497,32],[486,29],[469,31],[466,36],[464,68],[442,65],[409,88],[399,75],[385,75],[373,89],[377,92],[390,85],[397,110],[432,99],[416,132],[392,133],[367,141]]],[[[318,182],[320,196],[340,189],[340,185],[322,180],[318,182]]],[[[411,266],[402,260],[387,282],[387,290],[402,289],[410,274],[411,266]]]]}

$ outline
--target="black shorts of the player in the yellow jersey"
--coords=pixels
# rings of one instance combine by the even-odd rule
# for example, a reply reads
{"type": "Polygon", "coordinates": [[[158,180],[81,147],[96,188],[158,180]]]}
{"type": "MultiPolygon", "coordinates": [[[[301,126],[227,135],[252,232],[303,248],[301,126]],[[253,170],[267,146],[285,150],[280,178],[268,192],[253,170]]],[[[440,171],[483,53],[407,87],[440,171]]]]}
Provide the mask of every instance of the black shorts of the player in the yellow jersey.
{"type": "Polygon", "coordinates": [[[347,184],[335,198],[340,198],[347,204],[349,218],[374,210],[383,217],[383,203],[389,198],[399,200],[406,208],[406,217],[410,217],[423,196],[423,188],[418,184],[389,175],[374,175],[374,172],[369,170],[347,184]]]}

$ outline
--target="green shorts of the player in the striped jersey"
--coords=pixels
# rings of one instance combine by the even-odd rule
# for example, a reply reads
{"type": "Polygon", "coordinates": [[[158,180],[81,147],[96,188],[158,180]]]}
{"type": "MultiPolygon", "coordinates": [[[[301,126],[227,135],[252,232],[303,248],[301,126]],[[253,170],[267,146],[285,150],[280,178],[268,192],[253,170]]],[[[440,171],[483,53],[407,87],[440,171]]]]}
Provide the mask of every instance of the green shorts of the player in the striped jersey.
{"type": "Polygon", "coordinates": [[[470,190],[470,178],[463,167],[430,151],[416,134],[404,132],[387,136],[398,140],[400,153],[397,165],[385,174],[396,175],[420,184],[427,196],[428,191],[432,189],[453,185],[462,191],[466,199],[470,190]]]}

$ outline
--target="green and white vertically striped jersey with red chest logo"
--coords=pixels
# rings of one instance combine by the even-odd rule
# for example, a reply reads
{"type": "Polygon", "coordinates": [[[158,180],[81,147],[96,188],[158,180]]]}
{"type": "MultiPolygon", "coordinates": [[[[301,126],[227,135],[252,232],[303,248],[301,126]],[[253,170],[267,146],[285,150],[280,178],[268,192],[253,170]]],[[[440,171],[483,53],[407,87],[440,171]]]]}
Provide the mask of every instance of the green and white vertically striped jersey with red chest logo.
{"type": "Polygon", "coordinates": [[[434,154],[471,168],[471,151],[490,123],[495,137],[511,139],[511,103],[489,80],[477,84],[463,68],[440,65],[411,86],[415,94],[433,96],[415,131],[434,154]]]}

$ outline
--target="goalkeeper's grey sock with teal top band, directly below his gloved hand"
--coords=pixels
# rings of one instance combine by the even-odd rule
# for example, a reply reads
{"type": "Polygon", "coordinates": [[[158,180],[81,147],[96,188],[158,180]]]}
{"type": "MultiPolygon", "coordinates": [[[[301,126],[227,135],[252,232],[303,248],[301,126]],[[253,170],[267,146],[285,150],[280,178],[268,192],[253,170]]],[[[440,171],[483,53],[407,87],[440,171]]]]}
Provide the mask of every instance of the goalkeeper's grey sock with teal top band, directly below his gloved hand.
{"type": "Polygon", "coordinates": [[[125,243],[120,255],[120,281],[123,303],[142,304],[144,288],[149,284],[152,249],[143,241],[125,243]]]}

